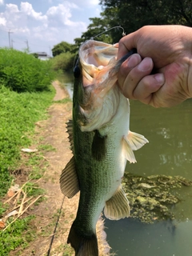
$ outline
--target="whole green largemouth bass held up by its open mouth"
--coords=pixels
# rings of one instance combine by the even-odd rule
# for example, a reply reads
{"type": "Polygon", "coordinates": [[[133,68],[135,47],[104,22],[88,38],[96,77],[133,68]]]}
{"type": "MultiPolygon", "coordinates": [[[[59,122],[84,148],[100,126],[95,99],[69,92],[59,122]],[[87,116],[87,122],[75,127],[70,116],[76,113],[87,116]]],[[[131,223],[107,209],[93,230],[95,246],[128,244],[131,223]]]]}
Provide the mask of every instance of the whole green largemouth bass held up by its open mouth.
{"type": "Polygon", "coordinates": [[[94,40],[79,48],[74,67],[73,121],[68,122],[73,158],[62,171],[60,185],[68,198],[80,190],[78,213],[67,242],[77,256],[98,256],[96,223],[130,215],[121,182],[126,160],[147,141],[130,132],[130,105],[118,88],[116,46],[94,40]]]}

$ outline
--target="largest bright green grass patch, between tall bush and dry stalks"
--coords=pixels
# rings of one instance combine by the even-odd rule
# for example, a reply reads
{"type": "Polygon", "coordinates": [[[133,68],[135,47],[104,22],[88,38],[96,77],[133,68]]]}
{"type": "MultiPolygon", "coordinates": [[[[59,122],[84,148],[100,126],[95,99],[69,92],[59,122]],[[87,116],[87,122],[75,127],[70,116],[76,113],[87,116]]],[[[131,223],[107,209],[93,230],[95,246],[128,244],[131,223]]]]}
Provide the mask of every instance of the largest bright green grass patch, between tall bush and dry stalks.
{"type": "Polygon", "coordinates": [[[30,146],[35,122],[46,118],[54,90],[18,94],[0,87],[0,196],[10,186],[10,171],[20,160],[22,147],[30,146]]]}

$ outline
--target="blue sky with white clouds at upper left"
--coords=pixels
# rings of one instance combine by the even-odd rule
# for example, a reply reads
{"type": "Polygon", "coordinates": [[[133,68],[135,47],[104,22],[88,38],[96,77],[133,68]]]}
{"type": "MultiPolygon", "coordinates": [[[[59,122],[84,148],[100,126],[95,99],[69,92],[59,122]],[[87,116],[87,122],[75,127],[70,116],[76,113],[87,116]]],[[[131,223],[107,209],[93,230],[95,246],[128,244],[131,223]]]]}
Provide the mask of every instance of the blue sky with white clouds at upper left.
{"type": "Polygon", "coordinates": [[[59,42],[74,43],[99,17],[99,0],[0,0],[0,47],[13,45],[30,52],[46,51],[59,42]],[[10,31],[10,42],[9,32],[10,31]]]}

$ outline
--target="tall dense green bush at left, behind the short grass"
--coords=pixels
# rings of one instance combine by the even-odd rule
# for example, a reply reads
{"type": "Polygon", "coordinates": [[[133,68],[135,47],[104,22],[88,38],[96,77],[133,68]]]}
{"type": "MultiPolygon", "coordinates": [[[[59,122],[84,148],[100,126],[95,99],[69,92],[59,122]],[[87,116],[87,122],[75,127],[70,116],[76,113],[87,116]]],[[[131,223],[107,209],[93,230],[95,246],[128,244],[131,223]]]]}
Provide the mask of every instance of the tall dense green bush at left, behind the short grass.
{"type": "Polygon", "coordinates": [[[54,79],[51,62],[14,49],[0,49],[0,79],[6,87],[21,92],[49,90],[54,79]]]}

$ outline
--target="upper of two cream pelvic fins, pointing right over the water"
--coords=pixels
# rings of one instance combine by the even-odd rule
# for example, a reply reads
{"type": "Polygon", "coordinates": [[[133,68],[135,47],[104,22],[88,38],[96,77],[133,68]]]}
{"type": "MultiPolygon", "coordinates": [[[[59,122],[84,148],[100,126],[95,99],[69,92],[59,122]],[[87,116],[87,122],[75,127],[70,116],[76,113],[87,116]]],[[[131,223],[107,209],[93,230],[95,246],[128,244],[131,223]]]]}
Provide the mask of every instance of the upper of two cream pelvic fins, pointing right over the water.
{"type": "Polygon", "coordinates": [[[149,142],[142,134],[136,134],[132,131],[129,131],[126,138],[129,141],[132,150],[139,150],[142,146],[149,142]]]}

